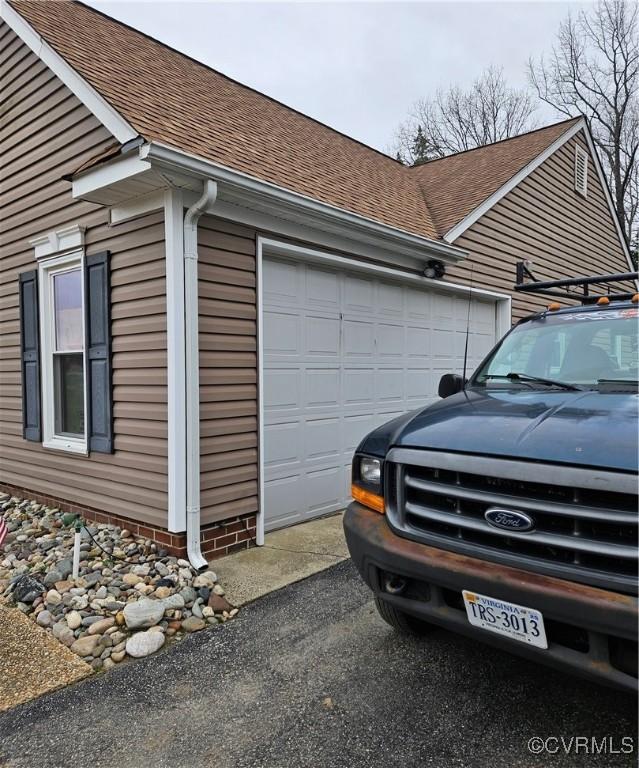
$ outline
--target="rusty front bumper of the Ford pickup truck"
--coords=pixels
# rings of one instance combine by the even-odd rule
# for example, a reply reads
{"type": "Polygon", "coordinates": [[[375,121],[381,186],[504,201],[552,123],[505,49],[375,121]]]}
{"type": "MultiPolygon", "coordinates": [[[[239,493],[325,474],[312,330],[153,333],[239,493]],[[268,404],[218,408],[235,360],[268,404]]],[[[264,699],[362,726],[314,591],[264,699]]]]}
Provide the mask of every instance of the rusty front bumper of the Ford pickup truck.
{"type": "Polygon", "coordinates": [[[395,534],[383,515],[357,502],[346,511],[344,530],[364,581],[398,609],[541,663],[637,690],[637,598],[410,541],[395,534]],[[409,588],[402,595],[388,594],[384,574],[402,576],[409,588]],[[462,589],[541,611],[548,649],[472,626],[462,589]]]}

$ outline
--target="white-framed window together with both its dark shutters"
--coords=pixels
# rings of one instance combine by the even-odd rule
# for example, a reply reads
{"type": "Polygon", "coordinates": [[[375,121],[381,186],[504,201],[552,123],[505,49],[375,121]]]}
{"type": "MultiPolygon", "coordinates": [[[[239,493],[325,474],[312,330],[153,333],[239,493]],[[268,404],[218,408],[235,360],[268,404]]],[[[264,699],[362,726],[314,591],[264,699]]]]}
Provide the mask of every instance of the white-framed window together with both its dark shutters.
{"type": "Polygon", "coordinates": [[[113,450],[108,252],[43,259],[20,276],[24,437],[113,450]]]}

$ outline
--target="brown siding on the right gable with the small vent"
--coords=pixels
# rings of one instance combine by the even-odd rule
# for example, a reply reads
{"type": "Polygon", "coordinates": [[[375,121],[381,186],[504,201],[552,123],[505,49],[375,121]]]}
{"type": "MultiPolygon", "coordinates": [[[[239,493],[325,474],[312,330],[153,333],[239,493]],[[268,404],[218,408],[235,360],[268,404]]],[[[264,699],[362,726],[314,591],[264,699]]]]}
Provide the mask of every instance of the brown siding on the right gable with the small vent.
{"type": "MultiPolygon", "coordinates": [[[[512,293],[515,264],[533,261],[540,279],[627,272],[628,262],[611,218],[603,188],[588,160],[588,196],[574,185],[575,144],[570,139],[461,235],[455,245],[469,252],[464,263],[448,267],[446,279],[512,293]]],[[[513,319],[547,306],[544,297],[513,295],[513,319]]]]}

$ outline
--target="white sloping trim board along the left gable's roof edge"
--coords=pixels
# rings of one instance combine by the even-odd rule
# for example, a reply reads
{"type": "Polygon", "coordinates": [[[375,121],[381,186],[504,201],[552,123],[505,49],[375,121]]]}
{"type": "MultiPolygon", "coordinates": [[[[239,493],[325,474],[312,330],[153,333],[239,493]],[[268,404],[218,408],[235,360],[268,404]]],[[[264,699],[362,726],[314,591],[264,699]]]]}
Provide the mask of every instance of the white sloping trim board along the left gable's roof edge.
{"type": "Polygon", "coordinates": [[[121,144],[135,139],[138,132],[75,69],[25,21],[9,3],[0,0],[2,18],[18,37],[49,67],[121,144]]]}

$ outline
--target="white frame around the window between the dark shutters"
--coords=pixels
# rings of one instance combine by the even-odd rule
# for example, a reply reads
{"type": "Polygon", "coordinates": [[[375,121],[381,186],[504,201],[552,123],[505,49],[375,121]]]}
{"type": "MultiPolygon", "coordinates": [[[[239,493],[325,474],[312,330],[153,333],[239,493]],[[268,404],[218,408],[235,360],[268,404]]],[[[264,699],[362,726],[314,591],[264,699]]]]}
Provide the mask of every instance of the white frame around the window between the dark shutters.
{"type": "MultiPolygon", "coordinates": [[[[83,347],[83,386],[84,386],[84,435],[69,437],[55,432],[55,391],[53,372],[53,352],[55,350],[55,312],[53,299],[53,278],[55,275],[80,269],[84,275],[84,251],[77,250],[42,259],[38,264],[38,285],[40,294],[40,355],[42,366],[42,445],[58,451],[88,455],[87,440],[87,366],[86,346],[83,347]]],[[[84,318],[84,280],[82,291],[82,337],[85,338],[84,318]]]]}

